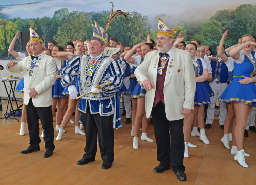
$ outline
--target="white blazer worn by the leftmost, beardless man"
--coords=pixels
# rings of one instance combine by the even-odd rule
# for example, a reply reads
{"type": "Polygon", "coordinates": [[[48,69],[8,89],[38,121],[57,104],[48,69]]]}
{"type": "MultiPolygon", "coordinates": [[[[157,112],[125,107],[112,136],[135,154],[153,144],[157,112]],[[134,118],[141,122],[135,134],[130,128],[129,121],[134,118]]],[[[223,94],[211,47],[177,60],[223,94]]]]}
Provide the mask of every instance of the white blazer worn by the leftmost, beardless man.
{"type": "Polygon", "coordinates": [[[11,72],[23,72],[24,103],[29,103],[30,89],[35,88],[38,95],[32,98],[35,107],[48,107],[52,105],[52,85],[56,80],[56,62],[54,58],[42,52],[40,62],[35,64],[31,81],[29,79],[29,60],[31,56],[24,57],[15,66],[9,68],[11,72]]]}

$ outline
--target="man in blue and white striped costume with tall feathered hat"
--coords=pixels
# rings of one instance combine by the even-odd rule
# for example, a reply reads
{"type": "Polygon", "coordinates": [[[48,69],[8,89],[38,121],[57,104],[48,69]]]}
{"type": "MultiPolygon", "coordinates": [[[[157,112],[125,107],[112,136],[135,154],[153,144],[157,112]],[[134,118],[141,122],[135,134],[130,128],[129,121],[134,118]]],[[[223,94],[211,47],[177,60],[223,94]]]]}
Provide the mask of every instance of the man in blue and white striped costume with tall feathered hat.
{"type": "Polygon", "coordinates": [[[77,56],[69,60],[67,67],[63,69],[61,74],[61,82],[63,87],[68,88],[71,99],[75,99],[77,97],[75,78],[76,73],[78,73],[80,95],[91,91],[88,95],[83,96],[79,102],[79,110],[86,131],[86,147],[84,148],[86,153],[77,164],[84,165],[95,161],[98,134],[103,160],[101,168],[108,169],[114,161],[114,131],[112,129],[115,111],[114,96],[123,85],[124,72],[121,64],[111,58],[110,54],[111,51],[113,54],[119,52],[120,48],[112,48],[110,52],[106,49],[107,51],[103,52],[108,45],[108,35],[96,21],[92,27],[90,56],[77,56]],[[103,88],[105,90],[99,90],[96,86],[102,81],[110,81],[112,84],[103,88]]]}

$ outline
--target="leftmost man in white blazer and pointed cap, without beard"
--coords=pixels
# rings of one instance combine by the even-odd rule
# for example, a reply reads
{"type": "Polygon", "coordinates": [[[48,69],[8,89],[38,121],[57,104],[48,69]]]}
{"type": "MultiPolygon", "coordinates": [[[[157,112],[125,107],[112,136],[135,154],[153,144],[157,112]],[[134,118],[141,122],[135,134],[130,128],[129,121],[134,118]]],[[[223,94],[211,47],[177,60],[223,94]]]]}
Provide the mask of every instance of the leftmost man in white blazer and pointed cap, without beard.
{"type": "Polygon", "coordinates": [[[8,70],[23,72],[24,103],[27,110],[30,146],[22,154],[40,151],[39,119],[44,128],[46,152],[44,157],[50,157],[55,148],[53,144],[54,131],[52,123],[52,85],[56,78],[55,60],[44,54],[44,44],[37,33],[30,28],[30,48],[32,56],[23,58],[20,62],[9,61],[8,70]]]}

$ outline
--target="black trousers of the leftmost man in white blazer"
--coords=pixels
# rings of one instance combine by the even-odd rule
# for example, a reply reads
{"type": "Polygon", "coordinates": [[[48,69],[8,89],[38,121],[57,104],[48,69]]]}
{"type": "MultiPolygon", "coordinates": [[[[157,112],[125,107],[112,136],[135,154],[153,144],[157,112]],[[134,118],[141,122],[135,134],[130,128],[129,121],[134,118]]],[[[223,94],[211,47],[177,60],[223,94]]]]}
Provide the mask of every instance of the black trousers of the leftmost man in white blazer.
{"type": "Polygon", "coordinates": [[[28,105],[26,105],[27,110],[27,122],[29,127],[29,144],[31,148],[39,148],[39,143],[41,139],[39,137],[39,119],[42,123],[42,128],[44,128],[44,141],[45,148],[51,151],[54,150],[55,146],[53,144],[54,130],[52,123],[52,106],[49,107],[35,107],[33,105],[32,99],[30,98],[28,105]]]}

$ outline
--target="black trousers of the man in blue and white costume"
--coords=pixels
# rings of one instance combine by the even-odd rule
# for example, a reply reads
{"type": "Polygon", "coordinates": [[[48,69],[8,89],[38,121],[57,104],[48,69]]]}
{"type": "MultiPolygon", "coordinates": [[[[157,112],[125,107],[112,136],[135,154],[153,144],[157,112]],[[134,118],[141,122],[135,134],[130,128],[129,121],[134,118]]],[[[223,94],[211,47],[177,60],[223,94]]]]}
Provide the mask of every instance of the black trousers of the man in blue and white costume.
{"type": "Polygon", "coordinates": [[[110,116],[91,114],[89,104],[87,104],[86,112],[81,112],[82,123],[86,132],[86,147],[84,148],[86,153],[83,158],[95,159],[99,133],[101,158],[104,163],[112,163],[114,161],[113,114],[110,116]]]}

